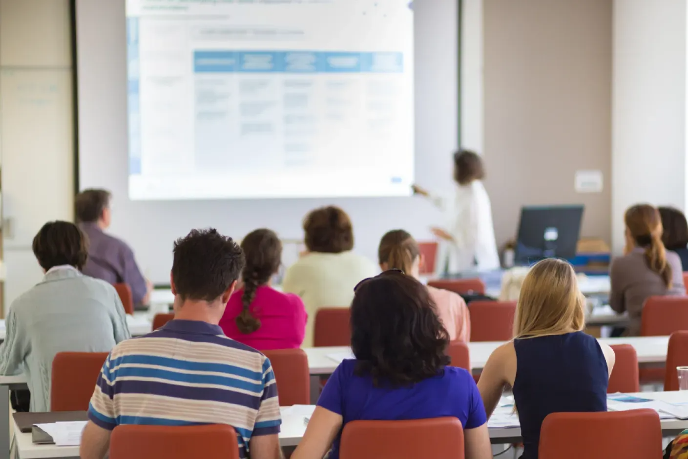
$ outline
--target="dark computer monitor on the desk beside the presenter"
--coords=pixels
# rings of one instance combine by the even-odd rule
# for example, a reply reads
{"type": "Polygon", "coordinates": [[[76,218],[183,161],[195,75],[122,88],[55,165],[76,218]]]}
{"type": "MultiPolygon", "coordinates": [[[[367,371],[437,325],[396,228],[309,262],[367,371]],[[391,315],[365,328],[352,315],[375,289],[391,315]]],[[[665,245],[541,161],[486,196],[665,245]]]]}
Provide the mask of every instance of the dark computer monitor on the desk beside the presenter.
{"type": "Polygon", "coordinates": [[[543,258],[573,258],[582,220],[582,205],[522,208],[516,263],[530,265],[543,258]]]}

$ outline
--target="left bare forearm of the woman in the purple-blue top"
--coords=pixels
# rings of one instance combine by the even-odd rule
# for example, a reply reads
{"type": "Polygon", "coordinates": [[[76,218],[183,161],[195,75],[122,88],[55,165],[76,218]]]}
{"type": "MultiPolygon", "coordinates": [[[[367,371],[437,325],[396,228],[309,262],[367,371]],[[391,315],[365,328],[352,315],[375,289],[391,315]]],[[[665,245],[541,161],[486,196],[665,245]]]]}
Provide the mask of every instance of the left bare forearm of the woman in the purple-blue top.
{"type": "Polygon", "coordinates": [[[341,415],[316,407],[292,459],[322,459],[342,427],[341,415]]]}

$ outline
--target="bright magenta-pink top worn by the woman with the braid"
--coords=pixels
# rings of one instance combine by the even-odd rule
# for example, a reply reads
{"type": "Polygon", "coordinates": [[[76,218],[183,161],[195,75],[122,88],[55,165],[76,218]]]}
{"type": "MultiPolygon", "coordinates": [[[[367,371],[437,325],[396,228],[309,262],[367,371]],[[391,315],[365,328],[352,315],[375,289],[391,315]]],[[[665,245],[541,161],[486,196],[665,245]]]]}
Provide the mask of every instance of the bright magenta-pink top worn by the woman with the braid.
{"type": "Polygon", "coordinates": [[[261,321],[261,326],[257,331],[244,335],[235,322],[242,309],[243,293],[243,289],[236,291],[227,302],[219,321],[225,335],[257,350],[295,349],[301,346],[308,320],[301,298],[266,285],[258,287],[250,311],[261,321]]]}

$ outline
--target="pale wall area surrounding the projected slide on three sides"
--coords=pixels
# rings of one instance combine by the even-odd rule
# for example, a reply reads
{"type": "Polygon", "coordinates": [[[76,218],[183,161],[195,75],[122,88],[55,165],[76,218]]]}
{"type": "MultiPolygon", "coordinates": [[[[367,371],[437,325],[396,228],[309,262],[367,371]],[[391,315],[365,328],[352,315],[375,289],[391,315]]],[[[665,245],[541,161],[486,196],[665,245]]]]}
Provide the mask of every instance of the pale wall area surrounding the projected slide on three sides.
{"type": "MultiPolygon", "coordinates": [[[[457,147],[458,75],[456,0],[416,0],[416,179],[451,191],[451,153],[457,147]]],[[[257,201],[131,202],[127,199],[125,110],[125,7],[123,0],[78,0],[78,109],[80,186],[114,192],[111,232],[136,252],[154,282],[167,282],[175,238],[193,227],[217,227],[241,238],[271,227],[283,238],[301,238],[301,219],[334,203],[354,222],[356,251],[376,257],[387,230],[402,227],[429,238],[442,216],[419,198],[257,201]]],[[[352,177],[356,180],[356,177],[352,177]]]]}

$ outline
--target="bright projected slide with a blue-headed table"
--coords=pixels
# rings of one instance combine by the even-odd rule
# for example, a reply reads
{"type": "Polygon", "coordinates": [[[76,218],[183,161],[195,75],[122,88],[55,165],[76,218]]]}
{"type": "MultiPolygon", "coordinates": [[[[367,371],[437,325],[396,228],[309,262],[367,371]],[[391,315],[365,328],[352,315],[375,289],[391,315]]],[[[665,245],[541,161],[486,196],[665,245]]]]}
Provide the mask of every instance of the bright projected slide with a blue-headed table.
{"type": "Polygon", "coordinates": [[[127,0],[129,198],[407,196],[409,0],[127,0]]]}

